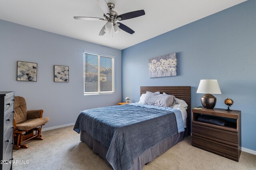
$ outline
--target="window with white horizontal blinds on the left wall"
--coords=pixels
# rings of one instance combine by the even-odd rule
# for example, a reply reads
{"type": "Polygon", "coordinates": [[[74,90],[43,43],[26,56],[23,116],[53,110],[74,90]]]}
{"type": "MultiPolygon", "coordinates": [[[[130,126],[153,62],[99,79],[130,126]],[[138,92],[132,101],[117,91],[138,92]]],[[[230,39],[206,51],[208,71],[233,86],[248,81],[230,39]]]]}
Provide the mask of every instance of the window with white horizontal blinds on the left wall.
{"type": "Polygon", "coordinates": [[[84,53],[84,94],[114,93],[114,58],[84,53]]]}

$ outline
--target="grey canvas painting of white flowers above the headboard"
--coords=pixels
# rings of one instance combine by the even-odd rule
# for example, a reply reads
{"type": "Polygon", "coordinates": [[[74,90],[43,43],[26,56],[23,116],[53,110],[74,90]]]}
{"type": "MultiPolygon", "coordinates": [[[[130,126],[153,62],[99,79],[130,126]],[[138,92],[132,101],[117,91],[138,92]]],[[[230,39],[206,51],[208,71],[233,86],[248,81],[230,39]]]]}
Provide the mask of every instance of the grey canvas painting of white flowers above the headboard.
{"type": "Polygon", "coordinates": [[[176,53],[149,59],[149,78],[177,75],[176,53]]]}

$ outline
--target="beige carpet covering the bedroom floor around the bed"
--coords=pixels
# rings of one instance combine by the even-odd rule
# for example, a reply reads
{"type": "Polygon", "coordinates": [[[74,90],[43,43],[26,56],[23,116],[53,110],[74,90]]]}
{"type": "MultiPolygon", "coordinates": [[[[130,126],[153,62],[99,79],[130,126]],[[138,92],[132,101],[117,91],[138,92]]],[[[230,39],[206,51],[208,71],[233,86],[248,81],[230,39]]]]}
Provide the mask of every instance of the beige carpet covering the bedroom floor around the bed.
{"type": "MultiPolygon", "coordinates": [[[[110,170],[98,154],[92,152],[73,126],[42,132],[43,141],[30,141],[28,149],[14,150],[14,170],[110,170]]],[[[186,137],[143,170],[256,170],[256,155],[242,152],[239,162],[212,154],[191,145],[186,137]]]]}

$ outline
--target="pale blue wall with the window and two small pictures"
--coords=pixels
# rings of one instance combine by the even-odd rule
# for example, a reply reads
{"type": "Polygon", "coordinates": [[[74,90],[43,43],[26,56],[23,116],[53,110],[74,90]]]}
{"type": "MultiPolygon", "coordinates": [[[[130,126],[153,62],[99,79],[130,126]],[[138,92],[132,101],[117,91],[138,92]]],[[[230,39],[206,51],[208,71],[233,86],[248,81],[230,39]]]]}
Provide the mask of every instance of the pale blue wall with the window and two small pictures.
{"type": "Polygon", "coordinates": [[[0,91],[44,109],[44,128],[74,123],[79,111],[121,101],[121,50],[0,20],[0,91]],[[84,50],[115,56],[115,93],[84,96],[84,50]],[[37,82],[16,81],[17,61],[38,63],[37,82]],[[69,66],[69,82],[54,82],[54,65],[69,66]],[[111,100],[109,100],[111,98],[111,100]]]}

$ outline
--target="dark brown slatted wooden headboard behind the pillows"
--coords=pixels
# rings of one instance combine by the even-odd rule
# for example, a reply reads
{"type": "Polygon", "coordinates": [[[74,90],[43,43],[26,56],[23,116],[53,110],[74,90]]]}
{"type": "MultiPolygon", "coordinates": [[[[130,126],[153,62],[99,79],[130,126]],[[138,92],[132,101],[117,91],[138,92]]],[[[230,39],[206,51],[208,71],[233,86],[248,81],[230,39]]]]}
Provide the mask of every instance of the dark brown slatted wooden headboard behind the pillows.
{"type": "Polygon", "coordinates": [[[150,92],[165,92],[166,94],[173,95],[178,99],[184,100],[188,104],[187,115],[188,115],[188,135],[191,133],[191,102],[190,86],[141,86],[140,87],[140,96],[145,94],[147,91],[150,92]]]}

